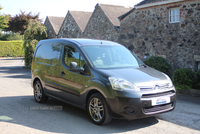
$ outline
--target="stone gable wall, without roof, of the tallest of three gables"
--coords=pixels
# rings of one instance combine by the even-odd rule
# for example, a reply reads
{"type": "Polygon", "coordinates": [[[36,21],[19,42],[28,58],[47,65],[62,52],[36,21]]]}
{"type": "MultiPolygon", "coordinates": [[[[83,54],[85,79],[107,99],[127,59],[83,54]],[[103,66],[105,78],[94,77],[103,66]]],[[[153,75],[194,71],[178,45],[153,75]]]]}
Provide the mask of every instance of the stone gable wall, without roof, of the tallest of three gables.
{"type": "Polygon", "coordinates": [[[119,27],[114,27],[102,9],[97,5],[84,30],[83,37],[117,42],[118,36],[119,27]]]}

